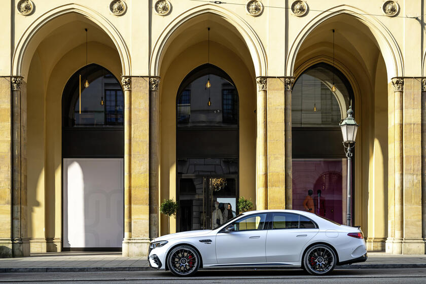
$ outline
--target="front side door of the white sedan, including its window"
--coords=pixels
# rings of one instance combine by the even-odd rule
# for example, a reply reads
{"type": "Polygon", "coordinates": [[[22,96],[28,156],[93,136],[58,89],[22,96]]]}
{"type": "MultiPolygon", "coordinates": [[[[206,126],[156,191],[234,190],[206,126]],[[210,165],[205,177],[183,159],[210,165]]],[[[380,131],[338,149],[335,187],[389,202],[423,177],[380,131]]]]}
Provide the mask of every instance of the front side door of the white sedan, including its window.
{"type": "Polygon", "coordinates": [[[235,231],[219,231],[216,235],[219,264],[266,262],[266,215],[249,215],[232,223],[235,231]]]}

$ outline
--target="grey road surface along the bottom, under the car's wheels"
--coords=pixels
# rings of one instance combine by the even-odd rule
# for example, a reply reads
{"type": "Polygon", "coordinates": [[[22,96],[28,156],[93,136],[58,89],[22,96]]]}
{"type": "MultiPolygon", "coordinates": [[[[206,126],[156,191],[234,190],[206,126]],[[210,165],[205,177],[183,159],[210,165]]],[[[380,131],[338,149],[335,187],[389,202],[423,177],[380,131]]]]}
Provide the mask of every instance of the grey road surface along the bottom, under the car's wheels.
{"type": "MultiPolygon", "coordinates": [[[[182,283],[169,272],[62,272],[0,273],[0,283],[182,283]]],[[[205,270],[185,283],[426,283],[426,268],[336,269],[329,276],[313,277],[302,270],[205,270]]]]}

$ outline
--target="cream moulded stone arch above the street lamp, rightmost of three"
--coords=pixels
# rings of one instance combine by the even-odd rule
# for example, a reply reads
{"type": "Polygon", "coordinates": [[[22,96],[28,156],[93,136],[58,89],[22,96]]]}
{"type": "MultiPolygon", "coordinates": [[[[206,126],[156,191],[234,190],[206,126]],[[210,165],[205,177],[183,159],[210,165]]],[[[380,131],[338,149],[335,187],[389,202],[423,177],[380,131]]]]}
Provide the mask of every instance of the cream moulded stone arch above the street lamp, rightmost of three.
{"type": "Polygon", "coordinates": [[[311,31],[326,20],[342,14],[355,17],[370,29],[385,61],[387,79],[390,81],[391,78],[404,76],[402,52],[388,28],[374,17],[367,15],[364,11],[347,5],[339,5],[324,11],[303,27],[290,47],[286,60],[286,76],[293,76],[299,49],[311,31]]]}

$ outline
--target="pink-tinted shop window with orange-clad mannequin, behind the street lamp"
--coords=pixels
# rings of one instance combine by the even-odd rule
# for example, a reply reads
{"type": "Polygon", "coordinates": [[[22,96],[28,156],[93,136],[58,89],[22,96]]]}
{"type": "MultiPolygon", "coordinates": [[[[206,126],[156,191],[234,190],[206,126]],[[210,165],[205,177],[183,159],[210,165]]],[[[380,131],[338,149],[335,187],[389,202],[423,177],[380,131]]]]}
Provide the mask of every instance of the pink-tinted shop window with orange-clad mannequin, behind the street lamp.
{"type": "Polygon", "coordinates": [[[345,172],[346,159],[293,159],[293,209],[341,224],[346,216],[345,172]]]}

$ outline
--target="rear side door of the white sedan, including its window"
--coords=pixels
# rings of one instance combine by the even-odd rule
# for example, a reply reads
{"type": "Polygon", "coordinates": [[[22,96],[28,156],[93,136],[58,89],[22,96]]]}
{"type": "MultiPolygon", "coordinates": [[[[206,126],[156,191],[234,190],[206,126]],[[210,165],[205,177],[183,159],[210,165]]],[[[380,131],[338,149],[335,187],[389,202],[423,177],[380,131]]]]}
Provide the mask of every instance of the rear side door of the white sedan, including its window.
{"type": "Polygon", "coordinates": [[[319,231],[312,220],[293,213],[275,212],[266,237],[266,261],[299,261],[305,244],[319,231]]]}

